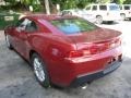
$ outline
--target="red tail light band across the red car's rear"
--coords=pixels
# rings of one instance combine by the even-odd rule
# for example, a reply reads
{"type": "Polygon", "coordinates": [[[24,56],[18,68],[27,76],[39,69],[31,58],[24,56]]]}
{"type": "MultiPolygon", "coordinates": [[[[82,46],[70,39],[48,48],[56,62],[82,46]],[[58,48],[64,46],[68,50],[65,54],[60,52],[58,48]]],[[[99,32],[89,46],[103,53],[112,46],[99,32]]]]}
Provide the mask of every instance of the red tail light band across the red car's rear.
{"type": "Polygon", "coordinates": [[[114,41],[108,41],[108,42],[103,42],[103,44],[93,44],[92,46],[90,46],[86,49],[83,50],[74,50],[74,51],[70,51],[68,53],[69,58],[78,58],[78,57],[83,57],[83,56],[91,56],[91,54],[96,54],[99,52],[103,52],[107,49],[117,47],[121,45],[121,40],[120,38],[117,38],[114,41]]]}

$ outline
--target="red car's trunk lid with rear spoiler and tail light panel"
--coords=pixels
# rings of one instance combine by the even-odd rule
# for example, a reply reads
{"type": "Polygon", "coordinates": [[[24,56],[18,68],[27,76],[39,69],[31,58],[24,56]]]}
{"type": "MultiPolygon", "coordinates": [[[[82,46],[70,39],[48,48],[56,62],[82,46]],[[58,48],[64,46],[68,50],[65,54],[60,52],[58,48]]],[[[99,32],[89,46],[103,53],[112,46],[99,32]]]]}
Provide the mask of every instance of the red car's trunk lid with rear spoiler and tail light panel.
{"type": "Polygon", "coordinates": [[[76,45],[76,51],[72,51],[70,57],[91,56],[103,52],[107,49],[120,46],[121,33],[112,29],[98,28],[90,33],[70,35],[69,38],[76,45]]]}

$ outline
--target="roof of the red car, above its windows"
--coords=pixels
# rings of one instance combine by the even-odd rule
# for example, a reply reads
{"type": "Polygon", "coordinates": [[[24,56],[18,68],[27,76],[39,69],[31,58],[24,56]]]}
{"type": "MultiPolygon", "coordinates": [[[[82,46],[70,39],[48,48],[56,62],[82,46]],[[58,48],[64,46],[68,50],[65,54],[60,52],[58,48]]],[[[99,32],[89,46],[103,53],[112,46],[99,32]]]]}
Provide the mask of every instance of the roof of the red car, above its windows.
{"type": "Polygon", "coordinates": [[[74,19],[74,17],[78,17],[78,16],[56,15],[56,14],[51,14],[51,15],[47,15],[47,14],[31,14],[31,15],[26,15],[25,17],[29,17],[29,19],[34,19],[34,20],[51,21],[51,20],[62,20],[62,19],[74,19]]]}

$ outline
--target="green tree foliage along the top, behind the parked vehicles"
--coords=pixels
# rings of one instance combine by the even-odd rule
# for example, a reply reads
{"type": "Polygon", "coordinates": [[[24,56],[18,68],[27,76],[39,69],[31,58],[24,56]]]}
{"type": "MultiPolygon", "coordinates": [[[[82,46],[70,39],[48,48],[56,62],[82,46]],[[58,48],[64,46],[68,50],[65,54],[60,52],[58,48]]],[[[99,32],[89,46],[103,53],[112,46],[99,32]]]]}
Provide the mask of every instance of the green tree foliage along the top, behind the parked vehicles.
{"type": "MultiPolygon", "coordinates": [[[[45,0],[4,0],[5,2],[10,3],[9,9],[25,9],[28,10],[28,7],[32,5],[35,11],[43,11],[45,10],[45,0]]],[[[106,2],[115,2],[115,3],[131,3],[131,0],[48,0],[49,7],[52,12],[57,11],[56,5],[60,4],[60,10],[66,9],[83,9],[90,3],[106,3],[106,2]]]]}

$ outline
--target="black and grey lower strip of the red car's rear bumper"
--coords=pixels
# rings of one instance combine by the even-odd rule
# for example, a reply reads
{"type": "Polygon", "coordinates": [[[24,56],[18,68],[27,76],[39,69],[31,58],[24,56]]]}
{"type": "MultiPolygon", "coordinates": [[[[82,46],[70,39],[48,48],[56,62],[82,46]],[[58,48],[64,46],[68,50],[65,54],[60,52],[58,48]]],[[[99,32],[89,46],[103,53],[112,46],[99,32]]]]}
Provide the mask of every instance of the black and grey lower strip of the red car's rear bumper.
{"type": "Polygon", "coordinates": [[[94,74],[87,74],[87,75],[84,75],[84,76],[78,76],[72,83],[71,83],[71,87],[76,87],[76,86],[81,86],[83,84],[86,84],[87,82],[92,82],[94,79],[97,79],[99,77],[103,77],[111,72],[114,72],[115,70],[117,70],[119,66],[121,65],[121,61],[117,61],[112,64],[110,64],[109,66],[114,66],[112,70],[105,70],[105,71],[100,71],[100,72],[97,72],[97,73],[94,73],[94,74]]]}

